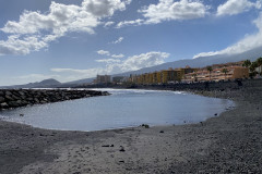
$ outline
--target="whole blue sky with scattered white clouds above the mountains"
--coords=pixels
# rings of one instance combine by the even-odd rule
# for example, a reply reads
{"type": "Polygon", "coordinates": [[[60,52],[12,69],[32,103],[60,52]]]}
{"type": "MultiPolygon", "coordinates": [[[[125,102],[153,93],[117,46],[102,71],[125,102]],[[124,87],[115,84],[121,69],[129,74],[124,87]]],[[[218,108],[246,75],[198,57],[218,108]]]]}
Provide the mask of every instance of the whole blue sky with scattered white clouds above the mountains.
{"type": "Polygon", "coordinates": [[[262,0],[0,0],[0,86],[262,46],[262,0]]]}

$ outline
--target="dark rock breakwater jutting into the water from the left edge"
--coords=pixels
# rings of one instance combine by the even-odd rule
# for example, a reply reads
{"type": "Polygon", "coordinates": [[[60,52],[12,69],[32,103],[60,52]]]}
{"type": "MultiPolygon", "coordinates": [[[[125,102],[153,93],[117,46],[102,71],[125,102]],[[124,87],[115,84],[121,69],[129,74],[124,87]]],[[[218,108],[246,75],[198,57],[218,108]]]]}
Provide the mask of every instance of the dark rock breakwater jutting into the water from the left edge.
{"type": "Polygon", "coordinates": [[[108,96],[107,91],[68,89],[0,89],[0,111],[5,109],[44,104],[95,96],[108,96]]]}

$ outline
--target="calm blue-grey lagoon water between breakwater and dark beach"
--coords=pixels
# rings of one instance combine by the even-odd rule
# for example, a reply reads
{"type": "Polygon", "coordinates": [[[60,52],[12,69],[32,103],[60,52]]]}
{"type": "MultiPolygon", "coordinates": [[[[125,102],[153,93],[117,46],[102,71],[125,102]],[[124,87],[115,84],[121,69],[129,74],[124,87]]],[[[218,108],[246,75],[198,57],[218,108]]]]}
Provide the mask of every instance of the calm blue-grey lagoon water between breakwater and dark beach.
{"type": "Polygon", "coordinates": [[[33,105],[0,112],[3,120],[35,127],[98,130],[150,125],[196,123],[234,103],[176,91],[104,89],[111,96],[33,105]],[[20,114],[24,116],[21,117],[20,114]]]}

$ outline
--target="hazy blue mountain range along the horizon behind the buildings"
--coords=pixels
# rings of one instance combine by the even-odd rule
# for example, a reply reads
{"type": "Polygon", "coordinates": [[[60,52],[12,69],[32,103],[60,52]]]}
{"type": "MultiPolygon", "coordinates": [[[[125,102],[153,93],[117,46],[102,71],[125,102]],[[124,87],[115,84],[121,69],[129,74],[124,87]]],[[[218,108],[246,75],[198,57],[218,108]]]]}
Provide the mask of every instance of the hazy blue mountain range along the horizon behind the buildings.
{"type": "MultiPolygon", "coordinates": [[[[204,67],[207,65],[212,64],[221,64],[221,63],[228,63],[228,62],[238,62],[238,61],[243,61],[243,60],[251,60],[254,61],[258,58],[262,57],[262,47],[252,49],[250,51],[246,51],[242,53],[238,54],[217,54],[217,55],[210,55],[210,57],[199,57],[196,59],[186,59],[186,60],[179,60],[179,61],[174,61],[174,62],[167,62],[164,64],[159,64],[156,66],[152,67],[145,67],[141,69],[138,71],[132,71],[132,72],[126,72],[126,73],[120,73],[120,74],[114,74],[111,75],[112,77],[115,76],[129,76],[130,74],[144,74],[144,73],[151,73],[155,71],[160,71],[160,70],[168,70],[169,67],[177,69],[177,67],[184,67],[187,65],[191,67],[204,67]]],[[[93,78],[84,78],[84,79],[79,79],[79,80],[73,80],[73,82],[68,82],[68,83],[59,83],[56,79],[45,79],[39,83],[31,83],[26,85],[16,85],[16,86],[9,86],[9,87],[0,87],[0,88],[52,88],[52,87],[73,87],[86,83],[92,83],[95,79],[93,78]]]]}

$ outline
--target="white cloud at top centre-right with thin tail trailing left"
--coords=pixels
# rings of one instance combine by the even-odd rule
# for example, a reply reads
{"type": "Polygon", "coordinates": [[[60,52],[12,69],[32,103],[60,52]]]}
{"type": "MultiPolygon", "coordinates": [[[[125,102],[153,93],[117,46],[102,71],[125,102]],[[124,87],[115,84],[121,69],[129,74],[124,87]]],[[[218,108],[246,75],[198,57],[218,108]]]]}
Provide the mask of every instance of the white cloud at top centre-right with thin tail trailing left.
{"type": "Polygon", "coordinates": [[[157,4],[150,4],[139,10],[144,18],[123,21],[118,23],[117,28],[127,25],[158,24],[164,21],[183,21],[201,18],[207,14],[210,7],[199,0],[159,0],[157,4]]]}

